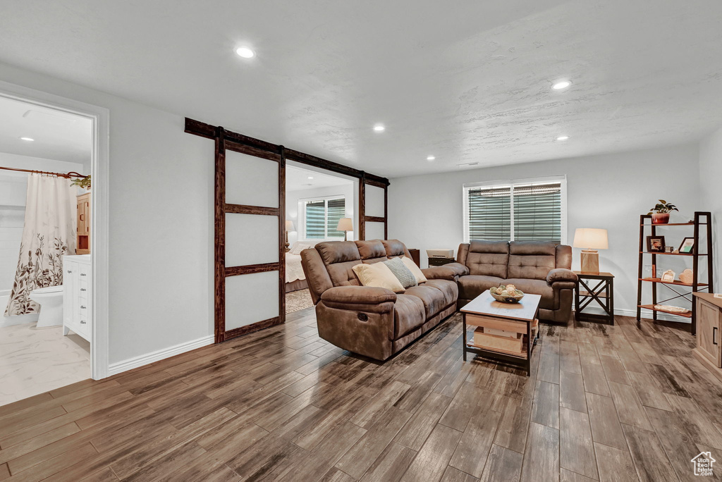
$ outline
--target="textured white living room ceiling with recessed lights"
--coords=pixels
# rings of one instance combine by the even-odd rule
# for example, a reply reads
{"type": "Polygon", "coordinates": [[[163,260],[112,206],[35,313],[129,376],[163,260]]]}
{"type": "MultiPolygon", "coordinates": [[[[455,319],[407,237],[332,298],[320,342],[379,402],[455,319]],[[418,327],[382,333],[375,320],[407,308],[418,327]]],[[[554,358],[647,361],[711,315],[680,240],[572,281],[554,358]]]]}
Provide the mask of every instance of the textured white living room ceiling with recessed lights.
{"type": "Polygon", "coordinates": [[[0,12],[0,61],[389,177],[679,144],[722,125],[719,0],[0,0],[0,12]],[[242,44],[258,56],[235,56],[242,44]],[[563,77],[573,86],[553,92],[563,77]]]}

